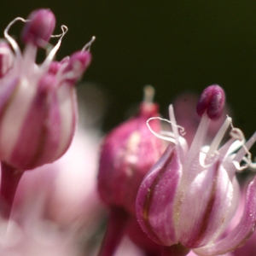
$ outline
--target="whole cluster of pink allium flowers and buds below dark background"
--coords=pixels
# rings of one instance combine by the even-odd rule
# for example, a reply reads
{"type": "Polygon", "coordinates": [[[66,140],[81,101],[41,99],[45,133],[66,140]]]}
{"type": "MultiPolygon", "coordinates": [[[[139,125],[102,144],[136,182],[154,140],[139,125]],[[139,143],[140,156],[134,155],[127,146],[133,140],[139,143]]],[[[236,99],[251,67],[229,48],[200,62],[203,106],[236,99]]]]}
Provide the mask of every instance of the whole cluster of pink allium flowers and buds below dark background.
{"type": "Polygon", "coordinates": [[[167,120],[148,85],[137,115],[110,131],[100,149],[98,128],[80,123],[74,136],[74,85],[90,65],[95,38],[54,61],[67,26],[59,35],[54,29],[55,15],[38,9],[10,22],[0,42],[1,254],[255,253],[256,177],[240,189],[236,172],[256,169],[249,152],[256,132],[246,141],[233,126],[224,90],[208,86],[197,103],[177,98],[167,120]],[[22,52],[9,35],[17,20],[25,23],[22,52]],[[59,38],[55,46],[50,38],[59,38]],[[47,52],[40,64],[39,48],[47,52]]]}

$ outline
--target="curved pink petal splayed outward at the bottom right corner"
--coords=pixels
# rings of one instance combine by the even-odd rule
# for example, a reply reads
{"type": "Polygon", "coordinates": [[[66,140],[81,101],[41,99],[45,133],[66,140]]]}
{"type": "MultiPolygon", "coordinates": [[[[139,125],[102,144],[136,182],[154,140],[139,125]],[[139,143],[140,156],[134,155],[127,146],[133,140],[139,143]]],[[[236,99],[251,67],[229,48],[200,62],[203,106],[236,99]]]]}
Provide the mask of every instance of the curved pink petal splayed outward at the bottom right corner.
{"type": "Polygon", "coordinates": [[[241,247],[253,234],[256,225],[256,177],[247,189],[246,204],[240,223],[222,240],[211,243],[207,247],[195,249],[198,255],[213,256],[224,254],[241,247]]]}

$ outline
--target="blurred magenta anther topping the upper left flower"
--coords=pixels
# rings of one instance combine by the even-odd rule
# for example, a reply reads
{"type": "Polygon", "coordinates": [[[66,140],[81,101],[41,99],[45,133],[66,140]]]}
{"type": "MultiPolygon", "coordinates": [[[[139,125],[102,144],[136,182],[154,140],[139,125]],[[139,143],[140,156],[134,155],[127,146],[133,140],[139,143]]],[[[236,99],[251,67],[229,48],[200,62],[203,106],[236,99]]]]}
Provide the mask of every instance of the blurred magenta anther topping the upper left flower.
{"type": "Polygon", "coordinates": [[[43,47],[55,29],[55,15],[49,9],[38,9],[29,15],[28,20],[21,33],[23,42],[43,47]]]}

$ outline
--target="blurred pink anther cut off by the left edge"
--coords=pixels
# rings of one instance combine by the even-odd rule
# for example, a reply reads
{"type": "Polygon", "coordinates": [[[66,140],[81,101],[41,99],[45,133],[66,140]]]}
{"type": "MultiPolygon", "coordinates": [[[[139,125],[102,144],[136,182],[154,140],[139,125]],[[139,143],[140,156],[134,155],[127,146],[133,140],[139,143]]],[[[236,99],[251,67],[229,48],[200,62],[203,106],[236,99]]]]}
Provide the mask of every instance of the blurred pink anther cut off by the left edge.
{"type": "Polygon", "coordinates": [[[0,79],[9,71],[14,61],[14,55],[9,44],[0,42],[0,79]]]}

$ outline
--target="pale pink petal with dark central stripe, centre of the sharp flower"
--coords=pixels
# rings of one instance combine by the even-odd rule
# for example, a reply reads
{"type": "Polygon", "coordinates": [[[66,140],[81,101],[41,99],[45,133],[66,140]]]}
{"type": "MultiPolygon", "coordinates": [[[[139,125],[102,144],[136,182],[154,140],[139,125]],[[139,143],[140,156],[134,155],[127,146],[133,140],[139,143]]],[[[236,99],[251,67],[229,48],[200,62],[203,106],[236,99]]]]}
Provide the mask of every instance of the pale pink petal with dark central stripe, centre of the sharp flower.
{"type": "Polygon", "coordinates": [[[197,175],[181,205],[179,241],[185,247],[201,247],[217,236],[232,196],[228,174],[218,163],[197,175]]]}

